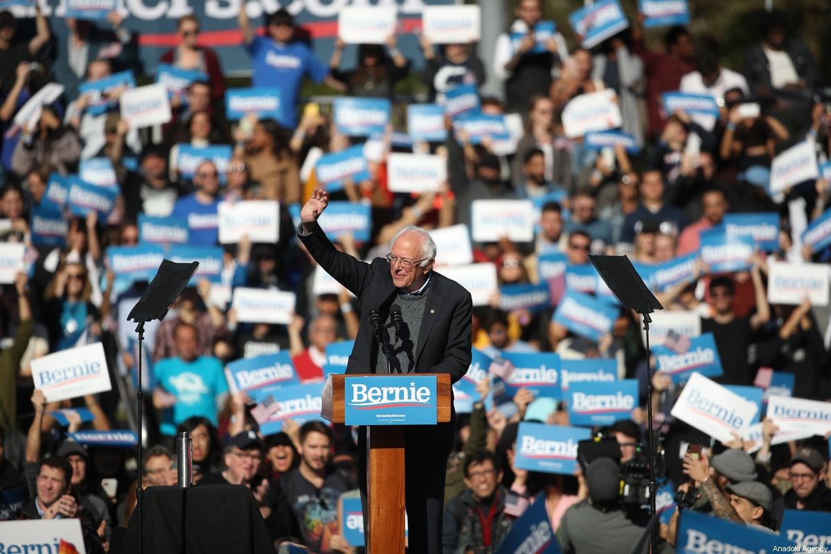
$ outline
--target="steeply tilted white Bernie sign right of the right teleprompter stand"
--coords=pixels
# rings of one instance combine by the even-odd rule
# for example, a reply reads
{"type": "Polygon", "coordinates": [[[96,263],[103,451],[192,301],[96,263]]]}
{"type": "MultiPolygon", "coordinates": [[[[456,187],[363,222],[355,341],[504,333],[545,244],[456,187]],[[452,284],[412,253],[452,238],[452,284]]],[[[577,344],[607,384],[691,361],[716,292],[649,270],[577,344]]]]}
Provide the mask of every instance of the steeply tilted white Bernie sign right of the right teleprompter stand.
{"type": "MultiPolygon", "coordinates": [[[[693,373],[671,414],[722,443],[744,434],[759,409],[704,375],[693,373]]],[[[770,411],[770,409],[769,409],[770,411]]]]}

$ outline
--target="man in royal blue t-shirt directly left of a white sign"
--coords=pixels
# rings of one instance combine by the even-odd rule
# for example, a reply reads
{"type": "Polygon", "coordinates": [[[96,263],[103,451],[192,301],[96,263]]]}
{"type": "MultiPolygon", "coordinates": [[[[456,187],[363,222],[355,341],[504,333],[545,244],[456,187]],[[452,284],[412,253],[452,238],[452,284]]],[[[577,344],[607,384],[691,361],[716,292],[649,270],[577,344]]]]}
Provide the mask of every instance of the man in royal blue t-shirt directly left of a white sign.
{"type": "Polygon", "coordinates": [[[214,162],[203,161],[194,172],[196,192],[176,200],[173,212],[188,218],[190,246],[215,246],[219,238],[219,172],[214,162]]]}

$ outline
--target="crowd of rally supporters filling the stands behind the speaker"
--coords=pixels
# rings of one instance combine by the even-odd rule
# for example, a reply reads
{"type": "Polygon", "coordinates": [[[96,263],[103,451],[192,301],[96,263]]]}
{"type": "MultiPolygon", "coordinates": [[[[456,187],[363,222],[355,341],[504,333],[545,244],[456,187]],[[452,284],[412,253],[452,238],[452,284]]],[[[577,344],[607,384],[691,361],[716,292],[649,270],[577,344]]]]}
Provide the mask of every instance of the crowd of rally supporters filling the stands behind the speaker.
{"type": "MultiPolygon", "coordinates": [[[[504,100],[482,96],[482,113],[518,114],[523,121],[522,134],[507,150],[487,137],[470,140],[449,117],[444,142],[396,141],[391,129],[374,138],[381,153],[369,161],[369,177],[344,179],[342,189],[330,193],[334,200],[370,207],[370,239],[343,233],[336,241],[343,252],[367,261],[387,255],[391,238],[408,225],[470,227],[476,200],[531,199],[539,209],[532,241],[505,237],[472,244],[473,261],[493,264],[499,287],[540,282],[539,258],[553,252],[565,256],[567,267],[586,267],[590,254],[604,253],[649,267],[699,252],[702,233],[720,226],[727,214],[775,214],[777,246],[757,250],[747,270],[715,274],[699,259],[683,282],[657,297],[666,311],[697,314],[701,332],[712,333],[723,367],[716,382],[764,387],[760,368],[762,375],[773,368],[794,375],[794,397],[831,401],[828,306],[807,299],[798,306],[773,304],[767,295],[774,262],[831,261],[828,243],[814,249],[803,239],[809,224],[827,213],[831,176],[784,191],[769,188],[772,160],[790,146],[808,140],[820,164],[831,155],[831,95],[823,96],[819,69],[798,33],[785,27],[782,14],[770,12],[758,42],[745,52],[745,65],[730,69],[721,65],[718,43],[693,37],[685,27],[661,30],[663,44],[653,48],[642,19],[636,19],[587,49],[559,32],[538,42],[534,29],[544,18],[542,0],[515,2],[515,15],[488,60],[479,58],[474,44],[435,46],[422,37],[425,64],[418,73],[396,37],[361,45],[356,66],[344,69],[347,46],[340,40],[327,64],[307,42],[296,40],[297,25],[288,12],[268,15],[263,34],[241,10],[251,86],[278,88],[288,109],[280,120],[239,121],[225,115],[228,68],[199,40],[199,19],[184,16],[179,45],[161,61],[206,78],[171,96],[172,120],[155,135],[161,140],[153,140],[121,119],[118,99],[126,87],[106,94],[104,110],[91,110],[101,99],[82,92],[84,83],[137,65],[137,37],[117,12],[106,23],[66,19],[69,34],[61,41],[50,27],[64,22],[47,21],[39,9],[36,33],[26,40],[17,36],[12,14],[0,12],[0,236],[24,244],[27,262],[26,272],[2,287],[0,520],[78,517],[86,552],[120,552],[135,507],[136,472],[145,486],[175,484],[174,437],[186,430],[193,439],[196,486],[247,485],[275,542],[302,543],[311,552],[355,552],[338,515],[342,498],[356,495],[356,433],[287,419],[282,432],[263,436],[253,402],[244,392],[232,392],[224,372],[234,360],[288,351],[297,380],[322,384],[327,347],[356,337],[360,299],[345,289],[315,293],[316,264],[297,240],[289,208],[322,186],[314,170],[304,168],[310,156],[366,138],[343,135],[327,105],[304,102],[305,80],[326,83],[337,94],[393,99],[396,82],[416,73],[429,101],[442,103],[455,86],[483,86],[490,64],[492,78],[504,83],[504,100]],[[42,105],[37,117],[16,120],[48,83],[60,83],[61,94],[42,105]],[[561,115],[569,101],[603,90],[614,92],[620,129],[631,135],[637,152],[622,145],[593,149],[582,137],[565,134],[561,115]],[[719,115],[666,113],[661,94],[672,91],[713,96],[719,115]],[[759,109],[743,108],[751,104],[759,109]],[[177,150],[184,145],[230,145],[233,154],[224,166],[205,159],[184,177],[177,168],[177,150]],[[445,156],[446,182],[421,194],[391,192],[386,155],[392,152],[445,156]],[[76,174],[82,160],[102,158],[110,160],[117,178],[111,212],[79,217],[65,210],[65,240],[38,243],[32,214],[51,202],[53,176],[76,174]],[[145,362],[155,386],[146,395],[144,459],[135,460],[134,451],[123,446],[68,439],[83,429],[135,425],[129,414],[140,355],[135,325],[126,316],[147,283],[121,279],[109,267],[108,249],[141,244],[141,216],[188,218],[190,246],[218,246],[219,203],[253,199],[279,202],[278,242],[243,238],[222,245],[221,282],[199,280],[164,321],[147,326],[145,362]],[[229,302],[217,300],[218,284],[295,292],[291,322],[238,321],[229,302]],[[111,391],[47,402],[42,390],[33,389],[32,360],[98,341],[111,391]],[[81,408],[91,416],[82,418],[81,408]],[[61,409],[68,411],[56,412],[61,409]]],[[[644,455],[650,425],[660,438],[661,483],[673,497],[689,493],[689,503],[679,499],[677,507],[661,507],[675,510],[661,522],[664,546],[675,545],[678,514],[686,509],[770,532],[779,531],[785,508],[831,511],[827,434],[779,442],[779,429],[764,419],[761,444],[740,437],[722,444],[671,416],[682,387],[661,372],[652,376],[655,414],[647,420],[650,373],[637,315],[618,311],[612,331],[593,340],[553,321],[555,302],[536,311],[503,307],[498,291],[475,306],[475,349],[497,364],[512,352],[615,360],[617,378],[638,380],[639,404],[631,419],[593,429],[617,439],[619,459],[597,458],[575,475],[535,473],[515,465],[519,422],[568,425],[567,407],[520,389],[509,409],[485,409],[495,375],[481,380],[470,414],[458,416],[455,449],[447,460],[445,554],[496,552],[535,498],[545,502],[564,552],[606,552],[612,542],[627,550],[624,542],[634,545],[643,525],[631,512],[642,515],[645,509],[622,502],[621,464],[644,455]],[[691,453],[689,444],[704,448],[691,453]]]]}

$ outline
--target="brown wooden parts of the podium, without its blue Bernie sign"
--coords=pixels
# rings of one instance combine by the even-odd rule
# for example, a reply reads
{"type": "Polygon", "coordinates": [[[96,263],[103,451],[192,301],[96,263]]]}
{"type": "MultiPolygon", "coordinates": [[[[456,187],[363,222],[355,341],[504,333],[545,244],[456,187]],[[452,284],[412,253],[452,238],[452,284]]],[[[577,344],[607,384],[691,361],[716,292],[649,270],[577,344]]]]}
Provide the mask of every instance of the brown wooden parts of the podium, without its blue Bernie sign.
{"type": "MultiPolygon", "coordinates": [[[[436,423],[450,421],[450,375],[435,375],[436,423]]],[[[332,423],[352,424],[346,418],[347,380],[353,377],[369,378],[374,385],[384,386],[385,380],[401,374],[329,375],[323,387],[321,415],[332,423]]],[[[406,375],[405,375],[406,376],[406,375]]],[[[369,426],[367,437],[366,486],[369,521],[364,522],[364,537],[368,554],[404,554],[404,427],[401,424],[369,426]]],[[[425,447],[428,446],[425,444],[425,447]]]]}

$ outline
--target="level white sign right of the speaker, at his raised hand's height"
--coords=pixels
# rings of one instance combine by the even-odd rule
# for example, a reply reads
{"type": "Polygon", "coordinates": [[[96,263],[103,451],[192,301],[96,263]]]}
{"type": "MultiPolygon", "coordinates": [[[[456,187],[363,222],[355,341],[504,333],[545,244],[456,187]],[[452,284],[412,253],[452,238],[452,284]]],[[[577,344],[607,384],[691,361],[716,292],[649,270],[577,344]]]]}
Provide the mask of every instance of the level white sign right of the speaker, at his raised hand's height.
{"type": "Polygon", "coordinates": [[[476,243],[498,243],[503,237],[514,243],[534,240],[534,204],[530,200],[474,200],[470,213],[476,243]]]}

